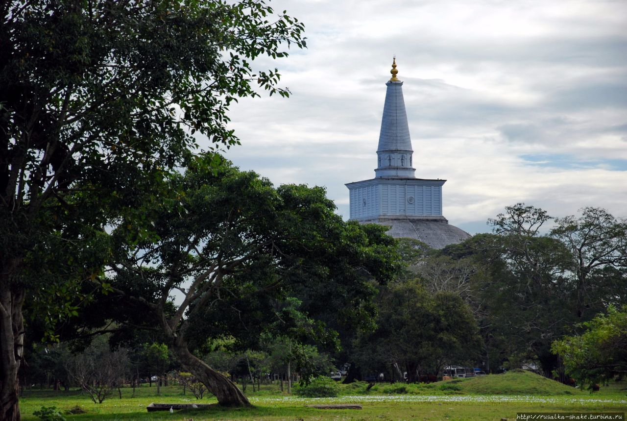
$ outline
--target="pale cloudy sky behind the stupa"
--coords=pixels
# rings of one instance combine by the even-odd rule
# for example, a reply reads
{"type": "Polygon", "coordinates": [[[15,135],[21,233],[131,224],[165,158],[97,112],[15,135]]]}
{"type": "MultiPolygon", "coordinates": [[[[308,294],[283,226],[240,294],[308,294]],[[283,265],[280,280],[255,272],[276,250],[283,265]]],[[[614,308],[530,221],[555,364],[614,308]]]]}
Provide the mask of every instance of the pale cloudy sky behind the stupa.
{"type": "Polygon", "coordinates": [[[275,184],[374,177],[396,55],[419,178],[443,178],[443,214],[470,232],[519,201],[550,215],[627,216],[627,2],[275,0],[308,49],[276,63],[289,99],[241,100],[226,153],[275,184]]]}

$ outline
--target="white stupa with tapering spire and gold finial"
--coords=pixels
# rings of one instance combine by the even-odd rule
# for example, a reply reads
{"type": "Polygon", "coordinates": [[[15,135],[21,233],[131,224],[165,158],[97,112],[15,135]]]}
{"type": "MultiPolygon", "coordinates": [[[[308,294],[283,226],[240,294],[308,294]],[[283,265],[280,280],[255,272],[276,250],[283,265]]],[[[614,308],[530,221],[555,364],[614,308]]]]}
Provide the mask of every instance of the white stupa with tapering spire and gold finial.
{"type": "Polygon", "coordinates": [[[433,248],[460,243],[470,235],[450,225],[442,215],[442,186],[446,180],[415,176],[403,82],[396,77],[396,58],[390,73],[375,176],[346,184],[350,191],[350,219],[388,225],[387,233],[392,237],[416,238],[433,248]]]}

